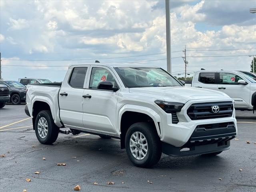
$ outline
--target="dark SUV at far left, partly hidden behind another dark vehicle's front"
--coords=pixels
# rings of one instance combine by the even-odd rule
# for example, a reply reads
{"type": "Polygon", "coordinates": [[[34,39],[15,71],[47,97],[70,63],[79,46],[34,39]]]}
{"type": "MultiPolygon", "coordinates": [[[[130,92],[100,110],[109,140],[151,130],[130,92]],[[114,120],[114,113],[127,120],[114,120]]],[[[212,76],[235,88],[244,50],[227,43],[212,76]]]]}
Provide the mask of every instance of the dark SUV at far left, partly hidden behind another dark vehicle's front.
{"type": "Polygon", "coordinates": [[[0,84],[4,84],[9,88],[10,102],[15,105],[26,101],[26,87],[18,81],[0,80],[0,84]]]}

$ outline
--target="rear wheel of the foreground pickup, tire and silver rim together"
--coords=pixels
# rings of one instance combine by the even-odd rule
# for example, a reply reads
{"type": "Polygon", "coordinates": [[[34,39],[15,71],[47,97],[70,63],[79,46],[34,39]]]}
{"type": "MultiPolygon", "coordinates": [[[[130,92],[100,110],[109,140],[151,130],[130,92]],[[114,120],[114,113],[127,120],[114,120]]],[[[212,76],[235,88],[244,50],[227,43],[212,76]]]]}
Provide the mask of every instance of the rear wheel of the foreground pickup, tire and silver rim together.
{"type": "Polygon", "coordinates": [[[35,131],[40,143],[54,143],[58,138],[59,130],[60,128],[55,125],[50,110],[44,110],[38,113],[35,121],[35,131]]]}

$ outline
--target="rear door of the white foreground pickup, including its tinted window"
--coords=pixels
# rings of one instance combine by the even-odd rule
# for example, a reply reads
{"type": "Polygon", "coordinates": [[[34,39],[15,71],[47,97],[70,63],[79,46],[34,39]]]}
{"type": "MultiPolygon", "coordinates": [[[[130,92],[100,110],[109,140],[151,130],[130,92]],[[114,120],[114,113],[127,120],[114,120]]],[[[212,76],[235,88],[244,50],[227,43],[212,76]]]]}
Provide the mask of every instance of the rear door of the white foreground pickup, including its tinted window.
{"type": "Polygon", "coordinates": [[[82,96],[89,66],[69,68],[59,92],[60,119],[65,126],[83,128],[82,96]]]}

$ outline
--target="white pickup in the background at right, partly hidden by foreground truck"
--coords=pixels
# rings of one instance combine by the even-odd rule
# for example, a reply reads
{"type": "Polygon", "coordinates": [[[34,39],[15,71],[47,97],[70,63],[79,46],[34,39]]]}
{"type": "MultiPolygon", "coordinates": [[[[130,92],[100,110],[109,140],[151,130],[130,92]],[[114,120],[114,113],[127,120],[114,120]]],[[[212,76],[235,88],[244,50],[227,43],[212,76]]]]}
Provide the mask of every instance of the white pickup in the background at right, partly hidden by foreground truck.
{"type": "Polygon", "coordinates": [[[192,87],[226,93],[237,110],[256,110],[256,80],[243,72],[200,70],[194,74],[192,87]]]}

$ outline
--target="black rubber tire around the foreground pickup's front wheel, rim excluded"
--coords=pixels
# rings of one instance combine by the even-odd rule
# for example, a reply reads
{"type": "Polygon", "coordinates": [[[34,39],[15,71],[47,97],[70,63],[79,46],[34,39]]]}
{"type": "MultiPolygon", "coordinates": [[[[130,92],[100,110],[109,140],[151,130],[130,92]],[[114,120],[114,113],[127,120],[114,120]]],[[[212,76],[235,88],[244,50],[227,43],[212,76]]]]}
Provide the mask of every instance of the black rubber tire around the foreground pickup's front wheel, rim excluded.
{"type": "MultiPolygon", "coordinates": [[[[128,158],[138,167],[149,168],[155,165],[161,158],[162,146],[154,124],[149,122],[134,123],[128,128],[125,136],[125,148],[128,158]],[[135,132],[141,132],[147,141],[147,153],[143,159],[136,159],[130,149],[130,138],[135,132]]],[[[142,149],[141,149],[142,150],[142,149]]]]}

